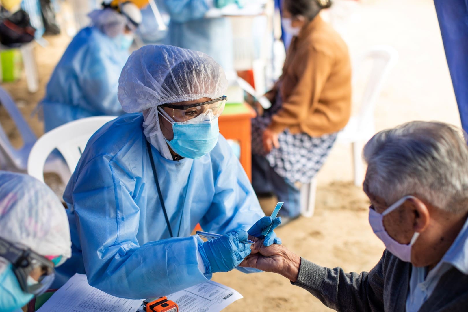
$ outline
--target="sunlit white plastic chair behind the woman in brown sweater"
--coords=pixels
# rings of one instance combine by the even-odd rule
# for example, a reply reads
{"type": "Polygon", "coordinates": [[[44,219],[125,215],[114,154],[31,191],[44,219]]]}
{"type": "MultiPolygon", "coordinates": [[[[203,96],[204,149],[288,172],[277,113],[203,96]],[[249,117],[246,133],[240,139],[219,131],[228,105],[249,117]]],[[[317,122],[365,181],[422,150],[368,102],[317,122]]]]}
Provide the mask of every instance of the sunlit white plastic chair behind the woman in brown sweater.
{"type": "MultiPolygon", "coordinates": [[[[364,168],[361,160],[362,148],[375,133],[374,107],[383,84],[398,60],[398,52],[390,46],[375,46],[358,58],[353,66],[353,81],[358,77],[359,69],[366,63],[372,62],[372,69],[361,98],[360,109],[357,115],[351,116],[344,129],[338,133],[336,142],[352,145],[354,167],[354,184],[361,185],[364,168]]],[[[310,183],[301,186],[301,214],[312,217],[315,209],[315,193],[317,181],[314,178],[310,183]]]]}

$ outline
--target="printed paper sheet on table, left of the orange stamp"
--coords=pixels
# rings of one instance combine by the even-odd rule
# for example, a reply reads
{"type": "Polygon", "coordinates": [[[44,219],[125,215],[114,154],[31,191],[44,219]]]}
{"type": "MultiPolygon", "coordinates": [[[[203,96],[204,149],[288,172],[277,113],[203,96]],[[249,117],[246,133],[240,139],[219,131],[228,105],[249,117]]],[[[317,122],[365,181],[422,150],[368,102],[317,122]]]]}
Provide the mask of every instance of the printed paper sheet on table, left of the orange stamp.
{"type": "Polygon", "coordinates": [[[142,302],[106,294],[89,286],[86,275],[75,274],[37,312],[135,312],[142,302]]]}

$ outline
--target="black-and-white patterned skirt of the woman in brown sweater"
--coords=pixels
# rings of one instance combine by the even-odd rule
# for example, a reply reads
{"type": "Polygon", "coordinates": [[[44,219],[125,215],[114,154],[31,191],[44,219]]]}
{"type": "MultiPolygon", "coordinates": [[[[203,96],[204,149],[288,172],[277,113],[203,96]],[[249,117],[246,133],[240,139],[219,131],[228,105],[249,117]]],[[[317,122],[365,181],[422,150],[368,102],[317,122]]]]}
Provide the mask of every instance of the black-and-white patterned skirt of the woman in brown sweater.
{"type": "Polygon", "coordinates": [[[306,133],[292,134],[286,129],[278,136],[279,148],[267,154],[263,149],[262,134],[278,106],[276,103],[263,116],[252,120],[252,152],[264,156],[278,175],[292,183],[309,183],[322,168],[337,133],[311,137],[306,133]]]}

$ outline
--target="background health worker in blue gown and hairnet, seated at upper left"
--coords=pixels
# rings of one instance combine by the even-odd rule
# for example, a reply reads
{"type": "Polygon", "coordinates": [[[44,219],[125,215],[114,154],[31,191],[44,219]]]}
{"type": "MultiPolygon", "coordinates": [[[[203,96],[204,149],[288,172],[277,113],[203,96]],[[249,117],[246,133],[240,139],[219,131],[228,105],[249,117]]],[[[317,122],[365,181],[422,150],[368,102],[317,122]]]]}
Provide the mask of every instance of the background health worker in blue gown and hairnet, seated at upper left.
{"type": "Polygon", "coordinates": [[[44,130],[70,121],[124,113],[117,99],[118,77],[129,56],[133,32],[141,22],[137,6],[106,5],[88,15],[55,67],[41,104],[44,130]]]}

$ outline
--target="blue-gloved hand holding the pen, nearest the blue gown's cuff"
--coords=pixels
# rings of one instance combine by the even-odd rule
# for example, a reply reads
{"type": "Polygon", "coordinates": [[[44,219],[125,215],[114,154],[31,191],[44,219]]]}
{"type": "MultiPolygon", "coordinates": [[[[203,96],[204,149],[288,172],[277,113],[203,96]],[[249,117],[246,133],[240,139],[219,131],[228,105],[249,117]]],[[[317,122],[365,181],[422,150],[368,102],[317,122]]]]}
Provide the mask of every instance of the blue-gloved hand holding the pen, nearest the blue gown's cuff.
{"type": "MultiPolygon", "coordinates": [[[[228,272],[241,264],[242,260],[251,252],[250,244],[241,243],[248,237],[247,232],[237,230],[198,245],[203,249],[199,250],[202,258],[205,261],[205,257],[203,257],[205,254],[209,268],[211,268],[211,270],[207,269],[207,272],[228,272]]],[[[205,263],[205,267],[208,267],[207,263],[205,263]]]]}

